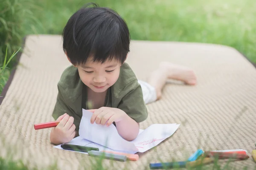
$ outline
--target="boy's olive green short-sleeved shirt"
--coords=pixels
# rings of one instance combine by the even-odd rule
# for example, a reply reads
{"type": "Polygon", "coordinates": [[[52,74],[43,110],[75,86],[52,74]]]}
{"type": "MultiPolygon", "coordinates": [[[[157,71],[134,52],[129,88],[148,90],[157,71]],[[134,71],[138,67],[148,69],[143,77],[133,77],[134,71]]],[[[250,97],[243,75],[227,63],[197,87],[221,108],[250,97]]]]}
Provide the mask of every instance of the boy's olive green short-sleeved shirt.
{"type": "MultiPolygon", "coordinates": [[[[86,85],[81,81],[78,69],[73,65],[66,68],[57,87],[58,95],[52,116],[54,119],[64,113],[73,116],[78,132],[82,108],[88,109],[86,85]]],[[[127,63],[121,66],[116,83],[108,88],[104,106],[119,108],[136,122],[143,122],[148,117],[141,86],[127,63]]]]}

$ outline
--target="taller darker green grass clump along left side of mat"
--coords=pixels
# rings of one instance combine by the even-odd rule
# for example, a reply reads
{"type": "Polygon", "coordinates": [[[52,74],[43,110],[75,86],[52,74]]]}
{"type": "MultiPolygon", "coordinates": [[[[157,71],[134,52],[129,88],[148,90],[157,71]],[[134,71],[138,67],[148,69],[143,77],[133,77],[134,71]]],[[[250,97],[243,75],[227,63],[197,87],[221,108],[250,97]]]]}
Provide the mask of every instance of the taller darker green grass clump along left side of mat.
{"type": "MultiPolygon", "coordinates": [[[[7,60],[14,51],[20,48],[23,37],[26,35],[25,21],[29,21],[31,24],[38,23],[31,11],[35,9],[32,2],[32,0],[0,0],[0,65],[4,65],[7,46],[7,60]]],[[[33,34],[33,31],[30,31],[30,34],[33,34]]],[[[11,69],[15,66],[15,61],[16,57],[9,63],[10,69],[6,69],[1,74],[0,94],[9,78],[11,69]]]]}

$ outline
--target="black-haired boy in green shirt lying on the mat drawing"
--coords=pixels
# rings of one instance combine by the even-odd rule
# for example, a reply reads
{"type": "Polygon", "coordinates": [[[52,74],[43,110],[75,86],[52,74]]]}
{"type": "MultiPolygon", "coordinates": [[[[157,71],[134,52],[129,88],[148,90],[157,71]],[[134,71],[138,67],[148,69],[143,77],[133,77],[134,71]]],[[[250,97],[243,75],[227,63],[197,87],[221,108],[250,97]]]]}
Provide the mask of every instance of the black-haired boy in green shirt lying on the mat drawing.
{"type": "Polygon", "coordinates": [[[192,70],[168,62],[148,83],[138,81],[125,63],[130,45],[125,21],[109,8],[89,5],[73,14],[63,31],[63,49],[72,65],[58,82],[52,116],[60,123],[51,130],[53,144],[78,136],[82,108],[93,112],[91,123],[113,123],[122,138],[134,140],[148,116],[146,104],[160,99],[166,79],[196,82],[192,70]]]}

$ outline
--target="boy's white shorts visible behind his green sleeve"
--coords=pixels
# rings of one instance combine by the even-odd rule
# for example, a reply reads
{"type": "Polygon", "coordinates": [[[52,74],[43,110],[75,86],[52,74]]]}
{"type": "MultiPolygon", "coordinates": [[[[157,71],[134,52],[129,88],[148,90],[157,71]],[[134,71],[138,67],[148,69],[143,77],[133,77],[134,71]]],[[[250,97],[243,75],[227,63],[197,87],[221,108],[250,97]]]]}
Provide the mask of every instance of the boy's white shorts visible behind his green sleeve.
{"type": "Polygon", "coordinates": [[[138,80],[138,82],[142,88],[143,100],[145,104],[156,101],[157,100],[156,89],[150,84],[148,84],[147,82],[144,82],[142,80],[138,80]]]}

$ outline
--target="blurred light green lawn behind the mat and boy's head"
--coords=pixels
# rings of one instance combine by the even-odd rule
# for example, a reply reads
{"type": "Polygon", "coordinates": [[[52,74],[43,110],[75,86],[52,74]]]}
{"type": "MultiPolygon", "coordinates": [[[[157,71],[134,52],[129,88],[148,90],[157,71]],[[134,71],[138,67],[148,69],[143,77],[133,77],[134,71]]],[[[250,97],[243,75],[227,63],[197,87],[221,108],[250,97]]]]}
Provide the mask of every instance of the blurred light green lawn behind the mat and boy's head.
{"type": "MultiPolygon", "coordinates": [[[[38,0],[41,34],[61,34],[68,18],[89,0],[38,0]],[[44,13],[44,15],[42,15],[44,13]]],[[[229,45],[256,62],[254,0],[95,0],[115,9],[134,40],[207,42],[229,45]]],[[[27,34],[32,29],[27,23],[27,34]]]]}

